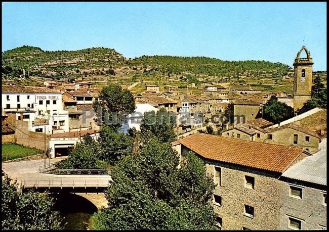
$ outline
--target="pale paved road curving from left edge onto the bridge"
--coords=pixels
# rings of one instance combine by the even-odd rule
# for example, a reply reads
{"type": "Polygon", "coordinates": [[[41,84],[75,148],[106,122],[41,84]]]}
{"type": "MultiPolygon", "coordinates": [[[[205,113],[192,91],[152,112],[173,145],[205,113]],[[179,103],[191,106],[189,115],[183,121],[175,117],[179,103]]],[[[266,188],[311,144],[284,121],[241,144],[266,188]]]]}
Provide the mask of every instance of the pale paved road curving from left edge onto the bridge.
{"type": "MultiPolygon", "coordinates": [[[[51,159],[51,164],[58,162],[60,160],[66,159],[66,157],[57,157],[51,159]]],[[[56,175],[48,173],[38,173],[39,166],[44,165],[44,159],[41,160],[29,160],[29,161],[20,161],[20,162],[11,162],[3,163],[2,168],[6,174],[12,179],[17,179],[18,183],[21,183],[22,180],[53,180],[58,181],[59,179],[65,179],[66,182],[72,181],[73,179],[76,182],[82,181],[105,181],[111,180],[109,175],[56,175]]],[[[49,160],[46,160],[46,165],[49,164],[49,160]]]]}

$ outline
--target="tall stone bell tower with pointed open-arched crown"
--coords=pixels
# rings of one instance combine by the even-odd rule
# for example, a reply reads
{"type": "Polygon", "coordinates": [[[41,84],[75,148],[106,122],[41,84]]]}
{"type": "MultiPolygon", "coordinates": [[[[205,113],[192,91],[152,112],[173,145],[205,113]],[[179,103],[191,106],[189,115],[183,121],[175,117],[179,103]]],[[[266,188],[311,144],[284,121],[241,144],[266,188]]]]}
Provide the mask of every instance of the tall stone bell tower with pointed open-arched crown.
{"type": "Polygon", "coordinates": [[[297,53],[294,62],[294,109],[303,107],[304,103],[312,97],[312,65],[310,52],[305,46],[297,53]],[[300,58],[305,51],[306,58],[300,58]]]}

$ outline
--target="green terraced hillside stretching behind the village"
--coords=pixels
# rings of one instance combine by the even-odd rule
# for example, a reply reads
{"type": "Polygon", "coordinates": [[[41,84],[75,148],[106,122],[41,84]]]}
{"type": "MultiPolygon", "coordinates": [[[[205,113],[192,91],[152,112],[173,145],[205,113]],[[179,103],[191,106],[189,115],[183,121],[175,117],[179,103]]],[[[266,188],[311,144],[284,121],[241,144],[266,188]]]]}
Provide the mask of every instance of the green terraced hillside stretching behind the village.
{"type": "Polygon", "coordinates": [[[225,83],[263,90],[292,92],[293,69],[267,61],[223,61],[207,57],[142,56],[126,59],[114,49],[43,51],[23,46],[3,53],[3,82],[40,85],[44,79],[72,81],[83,78],[94,86],[110,82],[131,84],[225,83]]]}

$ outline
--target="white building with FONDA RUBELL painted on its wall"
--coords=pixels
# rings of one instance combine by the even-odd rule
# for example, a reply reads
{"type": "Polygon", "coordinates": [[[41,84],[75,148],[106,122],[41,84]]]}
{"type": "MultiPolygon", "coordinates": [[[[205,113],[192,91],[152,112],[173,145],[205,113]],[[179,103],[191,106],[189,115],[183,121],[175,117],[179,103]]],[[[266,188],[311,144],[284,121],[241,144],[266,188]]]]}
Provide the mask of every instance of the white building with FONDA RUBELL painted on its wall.
{"type": "Polygon", "coordinates": [[[2,86],[3,113],[16,114],[16,120],[28,121],[34,132],[68,131],[68,111],[63,110],[62,94],[47,87],[2,86]]]}

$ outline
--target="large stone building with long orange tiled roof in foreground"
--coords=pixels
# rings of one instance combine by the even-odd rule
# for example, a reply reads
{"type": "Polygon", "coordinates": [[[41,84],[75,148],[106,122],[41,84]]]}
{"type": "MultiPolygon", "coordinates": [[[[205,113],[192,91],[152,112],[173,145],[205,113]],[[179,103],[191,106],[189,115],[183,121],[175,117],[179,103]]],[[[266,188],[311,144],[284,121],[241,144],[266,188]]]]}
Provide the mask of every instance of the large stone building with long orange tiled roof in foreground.
{"type": "Polygon", "coordinates": [[[278,178],[309,153],[202,133],[179,142],[181,162],[193,151],[217,183],[213,207],[222,229],[280,229],[283,182],[278,178]]]}

